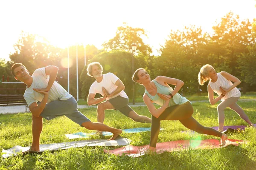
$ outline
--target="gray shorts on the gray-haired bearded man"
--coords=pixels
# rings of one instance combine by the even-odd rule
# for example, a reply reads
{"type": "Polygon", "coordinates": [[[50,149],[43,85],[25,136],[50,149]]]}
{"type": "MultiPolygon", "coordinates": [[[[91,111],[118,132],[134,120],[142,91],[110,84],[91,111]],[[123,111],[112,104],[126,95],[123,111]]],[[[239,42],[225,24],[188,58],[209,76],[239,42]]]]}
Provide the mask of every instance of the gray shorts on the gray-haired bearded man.
{"type": "Polygon", "coordinates": [[[108,102],[113,105],[115,110],[120,111],[123,113],[125,116],[129,116],[129,113],[133,111],[133,109],[128,105],[129,99],[121,97],[121,96],[116,96],[112,99],[109,99],[108,102]]]}

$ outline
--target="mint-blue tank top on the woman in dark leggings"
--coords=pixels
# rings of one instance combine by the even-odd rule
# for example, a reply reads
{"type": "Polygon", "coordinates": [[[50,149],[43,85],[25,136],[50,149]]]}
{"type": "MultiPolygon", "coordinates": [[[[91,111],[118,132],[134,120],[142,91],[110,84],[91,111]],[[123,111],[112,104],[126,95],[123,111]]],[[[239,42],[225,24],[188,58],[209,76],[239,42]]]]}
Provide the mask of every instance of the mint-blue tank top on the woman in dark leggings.
{"type": "MultiPolygon", "coordinates": [[[[156,80],[152,80],[152,82],[154,82],[154,84],[157,86],[157,93],[169,95],[173,91],[171,87],[160,85],[156,80]]],[[[165,100],[161,99],[157,94],[155,96],[151,96],[147,90],[145,90],[145,94],[147,94],[148,97],[157,105],[162,106],[165,103],[165,100]]],[[[177,93],[173,96],[172,99],[170,99],[168,107],[173,105],[182,105],[186,102],[189,102],[189,100],[177,93]]]]}

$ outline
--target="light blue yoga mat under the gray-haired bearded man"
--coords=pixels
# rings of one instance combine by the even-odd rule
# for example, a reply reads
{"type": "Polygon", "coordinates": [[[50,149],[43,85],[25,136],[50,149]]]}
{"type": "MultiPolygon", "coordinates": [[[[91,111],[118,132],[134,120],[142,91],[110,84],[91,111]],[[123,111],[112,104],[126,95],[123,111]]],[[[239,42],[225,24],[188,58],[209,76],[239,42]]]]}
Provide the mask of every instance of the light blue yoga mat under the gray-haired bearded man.
{"type": "MultiPolygon", "coordinates": [[[[146,132],[150,131],[151,127],[138,127],[138,128],[133,128],[133,129],[124,129],[122,130],[122,133],[139,133],[139,132],[146,132]]],[[[163,128],[160,128],[160,130],[163,130],[163,128]]],[[[93,133],[84,133],[84,132],[78,132],[78,133],[73,133],[73,134],[66,134],[68,139],[76,139],[76,138],[89,138],[92,135],[95,135],[96,132],[93,133]]],[[[111,132],[103,132],[103,136],[110,136],[113,135],[111,132]]]]}

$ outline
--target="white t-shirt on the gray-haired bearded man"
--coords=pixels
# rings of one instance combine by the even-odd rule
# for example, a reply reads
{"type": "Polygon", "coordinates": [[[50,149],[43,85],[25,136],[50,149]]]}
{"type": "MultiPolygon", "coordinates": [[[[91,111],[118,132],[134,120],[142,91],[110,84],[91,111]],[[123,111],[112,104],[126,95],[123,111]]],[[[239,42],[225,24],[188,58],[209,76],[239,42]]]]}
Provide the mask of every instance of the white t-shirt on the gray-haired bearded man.
{"type": "MultiPolygon", "coordinates": [[[[89,90],[90,94],[99,93],[102,96],[104,96],[104,93],[102,91],[102,87],[104,87],[108,91],[109,94],[111,94],[113,91],[116,90],[117,85],[115,85],[115,83],[119,78],[116,77],[116,75],[113,74],[113,73],[103,74],[102,76],[103,76],[103,79],[102,79],[101,82],[97,82],[97,80],[95,80],[95,82],[93,82],[93,84],[90,86],[90,90],[89,90]]],[[[124,97],[124,98],[128,99],[127,94],[125,93],[125,91],[122,90],[122,91],[120,91],[119,94],[116,94],[115,96],[107,97],[107,100],[112,99],[112,98],[114,98],[116,96],[119,96],[119,95],[121,97],[124,97]]]]}

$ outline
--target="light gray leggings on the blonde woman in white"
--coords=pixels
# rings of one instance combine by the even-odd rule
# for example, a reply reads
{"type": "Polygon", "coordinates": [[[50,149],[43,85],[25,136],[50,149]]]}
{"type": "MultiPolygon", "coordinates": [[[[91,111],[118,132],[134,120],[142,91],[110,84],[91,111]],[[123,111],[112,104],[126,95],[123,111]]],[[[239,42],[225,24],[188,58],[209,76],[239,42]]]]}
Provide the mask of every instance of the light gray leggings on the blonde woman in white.
{"type": "Polygon", "coordinates": [[[239,114],[239,116],[242,119],[244,119],[246,122],[249,120],[248,116],[244,113],[243,109],[240,108],[240,106],[236,104],[236,102],[238,101],[239,98],[240,97],[230,97],[230,98],[224,100],[223,102],[221,102],[217,106],[219,124],[221,124],[221,123],[224,124],[224,119],[225,119],[224,109],[227,107],[229,107],[230,109],[235,111],[237,114],[239,114]]]}

